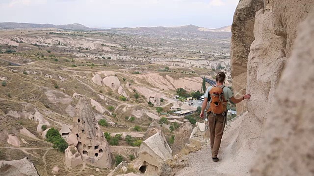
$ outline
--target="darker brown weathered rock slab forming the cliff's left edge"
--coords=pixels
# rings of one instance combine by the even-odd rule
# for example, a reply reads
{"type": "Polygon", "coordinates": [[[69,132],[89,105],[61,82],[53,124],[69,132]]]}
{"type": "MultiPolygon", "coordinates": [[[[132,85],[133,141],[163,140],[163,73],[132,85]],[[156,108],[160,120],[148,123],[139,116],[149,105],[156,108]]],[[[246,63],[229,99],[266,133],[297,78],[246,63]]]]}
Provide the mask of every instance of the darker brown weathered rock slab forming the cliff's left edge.
{"type": "MultiPolygon", "coordinates": [[[[255,14],[262,9],[263,0],[241,0],[235,10],[231,27],[231,74],[236,98],[246,91],[247,61],[254,41],[255,14]]],[[[236,105],[238,114],[245,109],[244,102],[236,105]]]]}

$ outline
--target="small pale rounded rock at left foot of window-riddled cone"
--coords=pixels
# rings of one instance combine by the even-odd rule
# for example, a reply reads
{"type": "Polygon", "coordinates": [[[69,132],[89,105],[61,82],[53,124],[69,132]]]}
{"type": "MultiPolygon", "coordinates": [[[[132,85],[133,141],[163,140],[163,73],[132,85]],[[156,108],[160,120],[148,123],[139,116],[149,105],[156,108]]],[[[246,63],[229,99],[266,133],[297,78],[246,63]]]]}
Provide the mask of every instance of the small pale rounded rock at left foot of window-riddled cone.
{"type": "Polygon", "coordinates": [[[78,165],[83,164],[81,155],[78,153],[78,149],[74,146],[69,146],[64,151],[64,162],[68,168],[75,168],[78,165]]]}

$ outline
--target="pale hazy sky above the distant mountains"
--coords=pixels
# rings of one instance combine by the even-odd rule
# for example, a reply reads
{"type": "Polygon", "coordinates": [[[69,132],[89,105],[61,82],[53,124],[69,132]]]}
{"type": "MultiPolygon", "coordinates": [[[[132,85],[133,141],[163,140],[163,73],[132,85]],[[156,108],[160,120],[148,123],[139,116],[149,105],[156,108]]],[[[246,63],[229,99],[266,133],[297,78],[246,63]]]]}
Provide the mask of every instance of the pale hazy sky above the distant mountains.
{"type": "Polygon", "coordinates": [[[88,27],[231,25],[239,0],[0,0],[0,22],[88,27]]]}

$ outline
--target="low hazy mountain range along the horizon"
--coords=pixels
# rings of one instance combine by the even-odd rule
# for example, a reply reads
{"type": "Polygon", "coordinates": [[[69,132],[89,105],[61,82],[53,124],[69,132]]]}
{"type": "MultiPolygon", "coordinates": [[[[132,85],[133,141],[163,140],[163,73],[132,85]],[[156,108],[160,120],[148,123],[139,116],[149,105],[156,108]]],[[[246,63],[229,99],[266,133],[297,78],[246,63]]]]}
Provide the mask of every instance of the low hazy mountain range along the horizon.
{"type": "Polygon", "coordinates": [[[201,31],[201,32],[231,32],[231,26],[224,26],[218,29],[208,29],[204,27],[198,27],[195,25],[186,25],[179,27],[124,27],[124,28],[90,28],[86,27],[82,24],[74,23],[74,24],[66,24],[66,25],[54,25],[54,24],[35,24],[35,23],[19,23],[19,22],[0,22],[0,29],[16,29],[16,28],[57,28],[57,29],[71,29],[71,30],[110,30],[110,31],[143,31],[143,32],[160,32],[160,31],[173,31],[180,30],[182,32],[190,32],[190,31],[201,31]]]}

